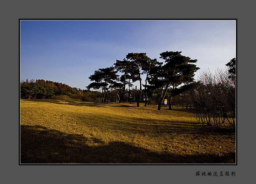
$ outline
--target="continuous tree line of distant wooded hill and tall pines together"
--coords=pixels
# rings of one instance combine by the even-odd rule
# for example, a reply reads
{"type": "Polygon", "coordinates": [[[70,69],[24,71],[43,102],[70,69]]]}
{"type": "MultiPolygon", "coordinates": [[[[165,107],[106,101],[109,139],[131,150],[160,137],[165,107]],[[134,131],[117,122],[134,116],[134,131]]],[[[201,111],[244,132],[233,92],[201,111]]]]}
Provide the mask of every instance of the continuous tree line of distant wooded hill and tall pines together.
{"type": "Polygon", "coordinates": [[[163,100],[168,98],[169,109],[173,96],[186,91],[189,83],[194,81],[194,72],[199,68],[194,65],[197,60],[182,56],[181,52],[166,51],[160,54],[165,64],[157,59],[150,59],[146,53],[128,53],[122,61],[116,60],[114,67],[107,67],[94,71],[89,76],[92,82],[88,90],[71,88],[70,86],[48,80],[31,80],[21,82],[21,98],[50,98],[53,95],[67,95],[83,101],[99,102],[145,102],[145,105],[158,104],[160,110],[163,100]],[[117,73],[122,73],[121,76],[117,73]],[[146,80],[142,84],[141,76],[146,80]],[[131,90],[132,83],[140,82],[139,90],[131,90]],[[186,84],[178,88],[180,84],[186,84]],[[126,89],[128,85],[128,90],[126,89]],[[142,90],[142,86],[144,89],[142,90]],[[90,88],[101,89],[90,91],[90,88]],[[101,94],[99,96],[99,94],[101,94]]]}

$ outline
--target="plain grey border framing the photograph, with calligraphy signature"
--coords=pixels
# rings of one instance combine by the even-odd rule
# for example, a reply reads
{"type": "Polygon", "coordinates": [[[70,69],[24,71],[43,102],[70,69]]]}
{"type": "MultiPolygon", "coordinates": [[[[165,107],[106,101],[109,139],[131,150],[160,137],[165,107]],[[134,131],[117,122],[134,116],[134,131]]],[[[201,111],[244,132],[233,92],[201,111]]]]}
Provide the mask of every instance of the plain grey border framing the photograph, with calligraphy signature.
{"type": "MultiPolygon", "coordinates": [[[[202,2],[201,5],[205,7],[198,7],[195,2],[180,2],[180,4],[166,4],[166,2],[157,1],[152,4],[144,4],[140,2],[125,2],[120,4],[111,4],[109,1],[100,3],[86,2],[84,4],[72,2],[54,2],[44,1],[43,4],[22,1],[16,4],[12,2],[4,2],[2,4],[2,13],[8,16],[3,20],[2,35],[4,45],[2,60],[2,69],[4,74],[2,79],[4,85],[7,85],[4,95],[4,103],[2,108],[4,114],[4,120],[2,121],[2,141],[4,147],[2,147],[2,160],[3,167],[6,168],[3,172],[3,181],[24,181],[26,183],[45,183],[45,182],[112,182],[112,183],[131,183],[131,182],[143,182],[143,183],[163,183],[163,182],[191,182],[197,183],[203,182],[241,182],[242,179],[249,179],[253,177],[253,162],[252,154],[253,150],[250,150],[252,140],[254,137],[248,137],[247,135],[253,135],[250,125],[253,119],[250,117],[244,117],[245,111],[248,109],[248,100],[242,98],[245,92],[242,89],[249,89],[250,81],[245,79],[242,74],[245,74],[247,69],[246,62],[250,61],[246,58],[247,55],[252,55],[253,45],[249,43],[249,36],[253,35],[250,25],[253,23],[250,20],[253,17],[253,9],[250,4],[242,2],[241,4],[234,2],[221,2],[218,4],[202,2]],[[186,4],[187,3],[187,4],[186,4]],[[186,6],[187,5],[187,6],[186,6]],[[117,7],[119,6],[119,7],[117,7]],[[180,9],[178,7],[181,7],[180,9]],[[182,9],[182,10],[181,10],[182,9]],[[242,12],[241,12],[242,11],[242,12]],[[250,14],[251,13],[251,14],[250,14]],[[102,165],[80,165],[80,166],[19,166],[19,145],[18,145],[18,123],[19,123],[19,62],[18,62],[18,19],[19,18],[85,18],[85,19],[207,19],[207,18],[238,18],[238,59],[243,61],[243,65],[238,63],[238,160],[237,166],[182,166],[182,165],[135,165],[135,166],[102,166],[102,165]],[[239,57],[240,56],[240,57],[239,57]],[[9,75],[8,75],[9,74],[9,75]],[[11,75],[10,75],[11,74],[11,75]],[[11,78],[11,82],[8,80],[11,78]],[[17,98],[17,99],[16,99],[17,98]],[[15,114],[15,115],[14,115],[15,114]],[[243,117],[243,119],[241,118],[243,117]],[[241,122],[241,124],[239,124],[241,122]],[[249,125],[249,126],[248,126],[249,125]],[[245,126],[248,126],[247,128],[245,126]],[[14,131],[13,131],[14,130],[14,131]],[[3,139],[4,138],[4,139],[3,139]],[[250,166],[252,165],[252,166],[250,166]],[[212,170],[230,170],[236,171],[235,177],[217,179],[212,177],[196,177],[196,171],[212,171],[212,170]]],[[[200,5],[199,4],[199,5],[200,5]]],[[[250,42],[250,40],[249,40],[250,42]]],[[[231,58],[230,58],[231,59],[231,58]]],[[[227,61],[228,62],[228,61],[227,61]]],[[[252,67],[254,68],[254,67],[252,67]]],[[[251,76],[253,77],[253,76],[251,76]]],[[[246,92],[250,93],[248,90],[246,92]]],[[[253,105],[253,104],[249,104],[253,105]]],[[[252,109],[252,108],[251,108],[252,109]]],[[[249,111],[250,112],[250,111],[249,111]]],[[[250,112],[251,113],[251,112],[250,112]]]]}

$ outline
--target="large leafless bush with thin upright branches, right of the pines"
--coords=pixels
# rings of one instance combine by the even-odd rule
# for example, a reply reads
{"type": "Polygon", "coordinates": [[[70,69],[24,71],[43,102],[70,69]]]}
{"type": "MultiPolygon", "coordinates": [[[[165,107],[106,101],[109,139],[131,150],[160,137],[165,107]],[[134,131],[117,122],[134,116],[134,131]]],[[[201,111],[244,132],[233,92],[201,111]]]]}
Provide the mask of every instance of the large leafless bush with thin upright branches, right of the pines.
{"type": "Polygon", "coordinates": [[[198,81],[200,84],[190,91],[190,105],[198,123],[221,127],[227,119],[235,128],[235,83],[227,70],[201,72],[198,81]]]}

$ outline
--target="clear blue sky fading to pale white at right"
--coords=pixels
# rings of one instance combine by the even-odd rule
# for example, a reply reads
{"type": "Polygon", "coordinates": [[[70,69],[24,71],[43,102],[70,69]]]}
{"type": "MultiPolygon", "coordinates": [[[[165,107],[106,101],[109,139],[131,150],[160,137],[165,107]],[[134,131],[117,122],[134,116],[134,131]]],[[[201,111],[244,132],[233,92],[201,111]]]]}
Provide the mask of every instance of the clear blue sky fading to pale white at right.
{"type": "MultiPolygon", "coordinates": [[[[160,59],[182,51],[200,71],[236,57],[235,20],[21,20],[20,79],[43,79],[86,89],[98,68],[128,53],[160,59]]],[[[145,80],[145,77],[142,77],[145,80]]],[[[144,84],[144,82],[142,83],[144,84]]],[[[136,83],[134,85],[137,85],[136,83]]]]}

